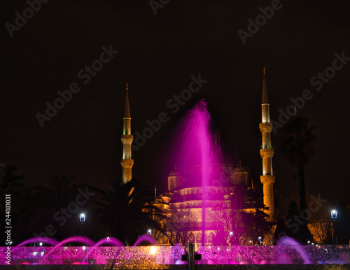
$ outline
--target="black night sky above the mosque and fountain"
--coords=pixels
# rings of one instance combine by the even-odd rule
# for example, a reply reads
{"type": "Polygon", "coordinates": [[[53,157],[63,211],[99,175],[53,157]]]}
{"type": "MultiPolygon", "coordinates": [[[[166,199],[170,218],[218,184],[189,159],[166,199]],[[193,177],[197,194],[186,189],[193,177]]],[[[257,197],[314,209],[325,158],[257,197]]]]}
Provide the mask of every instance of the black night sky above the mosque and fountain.
{"type": "MultiPolygon", "coordinates": [[[[298,112],[318,127],[307,190],[346,200],[350,61],[319,91],[310,80],[332,66],[335,53],[350,57],[347,1],[283,0],[243,44],[239,29],[248,31],[248,19],[255,20],[259,8],[272,3],[169,1],[155,15],[148,1],[51,0],[32,16],[27,10],[30,18],[12,38],[6,23],[15,24],[15,13],[22,15],[28,3],[1,3],[0,162],[16,164],[31,184],[48,182],[51,173],[76,175],[78,182],[100,187],[120,179],[127,80],[133,133],[141,133],[146,120],[161,112],[170,118],[134,151],[135,178],[165,189],[165,143],[186,110],[203,98],[225,143],[237,144],[242,162],[260,175],[265,64],[273,120],[280,108],[286,111],[290,97],[306,89],[313,94],[298,112]],[[85,84],[78,71],[110,45],[118,54],[85,84]],[[208,82],[172,113],[167,101],[188,89],[190,77],[198,74],[208,82]],[[36,114],[45,113],[46,102],[52,104],[57,91],[69,90],[71,83],[78,83],[80,92],[41,127],[36,114]]],[[[292,169],[278,153],[274,169],[275,188],[287,196],[295,187],[292,169]]]]}

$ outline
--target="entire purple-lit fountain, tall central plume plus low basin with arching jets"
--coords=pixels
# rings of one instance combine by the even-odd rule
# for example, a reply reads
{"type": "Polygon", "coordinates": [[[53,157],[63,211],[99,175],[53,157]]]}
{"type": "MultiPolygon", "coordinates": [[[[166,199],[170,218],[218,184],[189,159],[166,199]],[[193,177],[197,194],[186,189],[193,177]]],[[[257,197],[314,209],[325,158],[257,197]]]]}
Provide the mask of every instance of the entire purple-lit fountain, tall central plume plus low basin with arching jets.
{"type": "MultiPolygon", "coordinates": [[[[202,204],[197,205],[201,209],[197,218],[202,224],[197,231],[201,231],[203,237],[200,239],[202,244],[197,246],[200,260],[195,262],[201,264],[200,269],[335,268],[329,267],[329,264],[339,264],[337,269],[349,267],[349,245],[302,246],[288,236],[280,239],[276,246],[209,245],[204,236],[207,230],[215,228],[209,222],[208,209],[214,207],[213,201],[216,201],[215,207],[219,210],[228,208],[225,199],[221,199],[221,204],[218,204],[218,193],[213,190],[227,196],[225,192],[230,183],[225,179],[229,178],[222,176],[230,170],[223,164],[221,150],[210,132],[210,115],[204,101],[196,104],[183,124],[178,129],[180,133],[175,133],[179,141],[175,141],[172,148],[174,155],[168,162],[176,164],[177,169],[183,172],[183,178],[191,179],[188,186],[186,183],[181,184],[189,191],[194,188],[202,200],[202,204]]],[[[80,266],[76,264],[94,264],[94,269],[185,269],[183,264],[187,264],[181,260],[182,255],[186,254],[186,246],[160,246],[149,234],[140,236],[134,246],[124,246],[113,237],[106,237],[97,243],[84,236],[71,236],[60,242],[36,237],[10,247],[10,255],[8,250],[8,247],[0,247],[0,264],[15,264],[15,267],[22,269],[28,267],[27,264],[41,264],[40,269],[52,269],[54,264],[69,264],[65,269],[78,269],[80,266]],[[39,242],[49,246],[26,246],[39,242]],[[139,246],[145,242],[151,246],[139,246]],[[71,243],[80,243],[80,246],[65,246],[71,243]]]]}

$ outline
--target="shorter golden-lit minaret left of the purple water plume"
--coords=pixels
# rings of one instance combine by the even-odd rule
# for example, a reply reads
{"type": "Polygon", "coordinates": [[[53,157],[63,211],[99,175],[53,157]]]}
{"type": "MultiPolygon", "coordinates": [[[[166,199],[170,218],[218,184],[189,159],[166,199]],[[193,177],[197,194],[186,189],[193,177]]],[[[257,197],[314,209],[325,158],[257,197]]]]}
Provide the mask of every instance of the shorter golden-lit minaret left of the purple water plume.
{"type": "Polygon", "coordinates": [[[134,140],[134,136],[131,134],[131,114],[128,95],[125,97],[123,135],[120,139],[123,143],[123,157],[120,160],[120,164],[123,168],[123,184],[125,184],[132,179],[132,166],[134,165],[134,159],[132,159],[131,155],[131,144],[134,140]]]}

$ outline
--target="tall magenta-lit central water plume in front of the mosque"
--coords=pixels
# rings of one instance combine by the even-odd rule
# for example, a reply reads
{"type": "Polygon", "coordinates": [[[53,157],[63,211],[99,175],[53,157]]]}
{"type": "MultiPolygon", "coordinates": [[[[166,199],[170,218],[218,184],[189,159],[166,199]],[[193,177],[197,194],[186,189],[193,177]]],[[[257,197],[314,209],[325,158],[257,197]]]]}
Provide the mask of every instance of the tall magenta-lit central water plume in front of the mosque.
{"type": "MultiPolygon", "coordinates": [[[[202,187],[202,217],[198,220],[202,222],[202,236],[208,229],[209,187],[220,178],[221,168],[218,164],[223,162],[211,124],[207,103],[199,101],[174,132],[167,161],[168,168],[174,169],[176,166],[186,179],[183,187],[202,187]]],[[[204,241],[205,238],[202,237],[203,245],[204,241]]]]}

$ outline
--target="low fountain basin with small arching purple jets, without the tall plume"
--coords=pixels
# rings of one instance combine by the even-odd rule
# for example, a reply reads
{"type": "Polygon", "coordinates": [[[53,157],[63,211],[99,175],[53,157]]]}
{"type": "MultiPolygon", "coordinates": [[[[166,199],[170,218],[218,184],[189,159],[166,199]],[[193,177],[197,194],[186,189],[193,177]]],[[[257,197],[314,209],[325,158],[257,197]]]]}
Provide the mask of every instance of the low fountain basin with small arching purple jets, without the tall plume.
{"type": "MultiPolygon", "coordinates": [[[[31,239],[41,241],[42,239],[31,239]]],[[[55,241],[54,239],[51,239],[55,241]]],[[[143,268],[169,269],[181,267],[181,255],[186,254],[184,246],[154,246],[155,239],[151,235],[140,237],[137,243],[149,241],[153,246],[123,246],[118,239],[105,238],[97,243],[83,236],[73,236],[57,243],[54,247],[43,246],[16,246],[11,248],[11,264],[99,264],[118,265],[120,269],[143,268]],[[91,246],[62,246],[66,243],[90,243],[91,246]],[[108,244],[110,246],[101,246],[108,244]]],[[[29,243],[29,242],[28,242],[29,243]]],[[[136,242],[135,242],[136,243],[136,242]]],[[[6,264],[4,252],[1,247],[1,262],[6,264]]],[[[264,268],[265,264],[276,264],[276,269],[296,269],[298,265],[305,269],[307,265],[318,264],[313,269],[323,269],[328,264],[350,264],[350,246],[302,246],[294,239],[284,236],[276,246],[200,246],[198,253],[201,260],[196,264],[221,265],[221,269],[230,269],[240,264],[255,265],[264,268]]],[[[43,268],[45,269],[45,268],[43,268]]],[[[47,268],[48,269],[48,268],[47,268]]],[[[73,268],[72,268],[73,269],[73,268]]]]}

